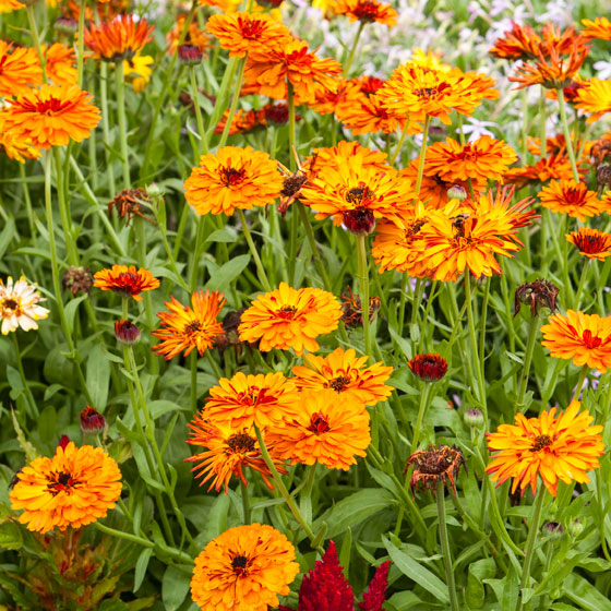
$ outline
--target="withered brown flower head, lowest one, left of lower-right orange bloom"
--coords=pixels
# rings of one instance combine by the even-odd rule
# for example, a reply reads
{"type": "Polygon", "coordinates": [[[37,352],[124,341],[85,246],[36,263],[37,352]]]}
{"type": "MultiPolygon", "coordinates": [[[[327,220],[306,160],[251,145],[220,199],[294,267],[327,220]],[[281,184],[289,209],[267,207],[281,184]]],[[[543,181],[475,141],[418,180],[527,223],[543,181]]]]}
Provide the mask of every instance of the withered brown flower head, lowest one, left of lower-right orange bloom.
{"type": "Polygon", "coordinates": [[[405,470],[407,471],[411,465],[414,465],[414,471],[409,484],[415,493],[420,488],[435,492],[439,481],[443,482],[444,488],[447,488],[446,479],[448,479],[450,486],[456,494],[456,478],[460,471],[460,466],[467,469],[463,451],[455,445],[452,447],[448,445],[438,447],[431,445],[429,450],[415,452],[408,458],[405,470]]]}

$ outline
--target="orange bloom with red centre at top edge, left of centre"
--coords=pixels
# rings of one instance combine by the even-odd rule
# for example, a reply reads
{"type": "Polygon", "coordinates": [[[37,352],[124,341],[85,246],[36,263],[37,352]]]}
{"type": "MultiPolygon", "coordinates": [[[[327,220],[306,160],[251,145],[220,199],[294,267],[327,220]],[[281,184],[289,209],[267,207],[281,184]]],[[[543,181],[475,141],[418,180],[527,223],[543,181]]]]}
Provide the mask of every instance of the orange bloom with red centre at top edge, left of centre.
{"type": "Polygon", "coordinates": [[[265,13],[229,13],[212,15],[206,29],[229,51],[229,57],[281,48],[292,39],[288,27],[265,13]]]}

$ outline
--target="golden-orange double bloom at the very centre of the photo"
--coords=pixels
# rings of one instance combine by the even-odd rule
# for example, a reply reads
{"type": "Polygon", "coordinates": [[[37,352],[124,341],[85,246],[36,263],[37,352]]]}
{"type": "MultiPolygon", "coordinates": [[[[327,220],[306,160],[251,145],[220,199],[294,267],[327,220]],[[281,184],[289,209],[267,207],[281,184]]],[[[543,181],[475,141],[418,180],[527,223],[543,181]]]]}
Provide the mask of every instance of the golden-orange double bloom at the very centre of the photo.
{"type": "Polygon", "coordinates": [[[292,348],[299,356],[303,350],[319,349],[316,337],[337,328],[342,308],[337,298],[320,288],[295,289],[286,283],[260,295],[242,313],[238,327],[242,342],[256,342],[259,349],[292,348]]]}

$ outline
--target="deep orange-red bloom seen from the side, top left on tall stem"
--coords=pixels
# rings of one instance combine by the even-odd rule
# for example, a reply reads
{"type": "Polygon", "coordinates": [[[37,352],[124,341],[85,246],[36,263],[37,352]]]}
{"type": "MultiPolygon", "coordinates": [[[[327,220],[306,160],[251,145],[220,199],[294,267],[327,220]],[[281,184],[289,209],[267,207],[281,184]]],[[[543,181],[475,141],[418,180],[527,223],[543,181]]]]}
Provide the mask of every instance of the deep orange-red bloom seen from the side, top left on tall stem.
{"type": "Polygon", "coordinates": [[[118,15],[100,25],[91,23],[83,39],[95,58],[117,62],[142,51],[146,43],[153,40],[154,28],[145,19],[134,21],[133,15],[118,15]]]}

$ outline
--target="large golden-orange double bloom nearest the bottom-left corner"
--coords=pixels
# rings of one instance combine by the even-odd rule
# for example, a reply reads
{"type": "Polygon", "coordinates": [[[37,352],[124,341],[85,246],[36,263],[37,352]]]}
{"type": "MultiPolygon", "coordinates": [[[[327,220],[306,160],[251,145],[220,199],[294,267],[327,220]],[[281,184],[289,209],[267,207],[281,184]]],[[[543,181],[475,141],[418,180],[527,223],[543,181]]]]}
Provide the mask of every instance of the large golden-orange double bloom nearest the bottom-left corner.
{"type": "Polygon", "coordinates": [[[101,447],[73,442],[58,446],[52,458],[35,458],[17,478],[11,507],[25,510],[20,523],[38,532],[91,524],[105,517],[121,494],[117,463],[101,447]]]}

